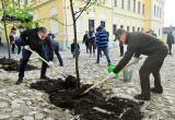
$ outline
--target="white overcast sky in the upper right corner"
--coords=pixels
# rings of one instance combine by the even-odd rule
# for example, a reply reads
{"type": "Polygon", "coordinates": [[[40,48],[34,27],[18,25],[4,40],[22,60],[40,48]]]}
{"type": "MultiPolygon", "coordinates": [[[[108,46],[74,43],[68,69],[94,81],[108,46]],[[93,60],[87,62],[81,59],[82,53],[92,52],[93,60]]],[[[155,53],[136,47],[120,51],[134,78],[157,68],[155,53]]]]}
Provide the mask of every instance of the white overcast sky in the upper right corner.
{"type": "Polygon", "coordinates": [[[175,0],[165,0],[164,26],[175,26],[175,0]]]}

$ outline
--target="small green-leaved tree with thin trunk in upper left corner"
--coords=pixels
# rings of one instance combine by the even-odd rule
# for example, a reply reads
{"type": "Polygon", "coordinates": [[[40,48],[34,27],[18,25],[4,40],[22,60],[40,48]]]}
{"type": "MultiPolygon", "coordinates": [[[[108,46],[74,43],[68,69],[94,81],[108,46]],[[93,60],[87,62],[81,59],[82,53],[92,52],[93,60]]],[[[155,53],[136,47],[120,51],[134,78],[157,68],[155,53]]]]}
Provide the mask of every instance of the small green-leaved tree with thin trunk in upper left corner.
{"type": "Polygon", "coordinates": [[[8,23],[13,24],[15,26],[15,22],[20,23],[27,23],[31,22],[33,15],[30,14],[32,12],[32,5],[26,5],[23,3],[21,4],[20,0],[1,0],[1,12],[0,15],[2,16],[1,23],[3,26],[3,31],[5,34],[5,40],[8,44],[8,52],[9,52],[9,60],[11,59],[11,51],[10,51],[10,40],[8,36],[8,23]]]}

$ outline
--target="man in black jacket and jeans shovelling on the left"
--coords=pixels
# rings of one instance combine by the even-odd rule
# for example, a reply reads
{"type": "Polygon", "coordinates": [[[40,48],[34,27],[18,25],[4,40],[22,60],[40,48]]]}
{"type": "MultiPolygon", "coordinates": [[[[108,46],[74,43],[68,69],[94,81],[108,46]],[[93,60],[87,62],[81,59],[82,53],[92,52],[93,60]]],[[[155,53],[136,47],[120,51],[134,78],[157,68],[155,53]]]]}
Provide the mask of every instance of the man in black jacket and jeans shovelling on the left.
{"type": "MultiPolygon", "coordinates": [[[[46,61],[50,61],[48,62],[49,65],[52,64],[51,60],[54,59],[54,49],[45,27],[24,31],[21,34],[21,41],[16,44],[18,46],[24,46],[24,49],[22,50],[22,59],[20,60],[19,80],[16,84],[21,84],[23,82],[24,71],[26,69],[26,64],[32,55],[32,51],[36,51],[46,61]],[[50,52],[50,56],[47,56],[44,45],[48,46],[48,52],[50,52]]],[[[47,67],[47,63],[43,62],[40,72],[40,79],[43,80],[50,80],[46,76],[47,67]]]]}

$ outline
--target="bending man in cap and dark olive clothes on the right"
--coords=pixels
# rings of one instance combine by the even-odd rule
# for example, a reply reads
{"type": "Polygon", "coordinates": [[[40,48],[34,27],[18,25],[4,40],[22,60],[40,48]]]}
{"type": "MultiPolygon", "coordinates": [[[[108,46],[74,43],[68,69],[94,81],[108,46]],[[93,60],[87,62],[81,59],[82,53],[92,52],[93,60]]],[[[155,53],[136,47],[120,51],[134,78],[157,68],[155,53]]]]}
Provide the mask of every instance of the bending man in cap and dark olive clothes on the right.
{"type": "Polygon", "coordinates": [[[168,52],[166,45],[160,39],[144,33],[128,33],[125,29],[117,29],[116,34],[119,41],[127,44],[128,47],[124,58],[108,77],[115,77],[116,73],[131,60],[132,56],[139,62],[140,55],[145,55],[148,58],[139,70],[141,94],[135,96],[135,98],[150,100],[151,92],[162,94],[163,88],[161,85],[160,70],[168,52]],[[154,87],[150,89],[151,73],[154,76],[154,87]]]}

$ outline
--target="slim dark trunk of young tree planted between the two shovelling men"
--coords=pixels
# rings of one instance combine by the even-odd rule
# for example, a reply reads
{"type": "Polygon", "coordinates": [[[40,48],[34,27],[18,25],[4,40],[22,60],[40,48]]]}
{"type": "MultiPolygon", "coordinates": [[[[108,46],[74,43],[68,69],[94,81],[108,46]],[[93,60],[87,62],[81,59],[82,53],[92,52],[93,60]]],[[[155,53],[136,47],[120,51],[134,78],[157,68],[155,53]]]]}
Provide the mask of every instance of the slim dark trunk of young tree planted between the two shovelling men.
{"type": "Polygon", "coordinates": [[[73,10],[73,3],[72,0],[70,0],[70,8],[71,8],[71,14],[72,14],[72,21],[73,21],[73,33],[74,33],[74,48],[75,48],[75,73],[77,73],[77,88],[80,88],[80,76],[79,76],[79,57],[78,57],[78,41],[77,41],[77,21],[73,10]]]}

